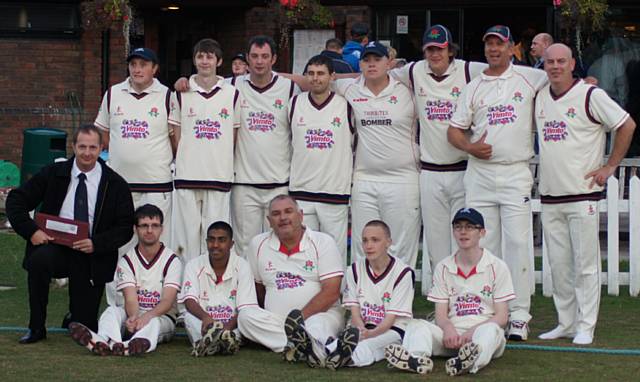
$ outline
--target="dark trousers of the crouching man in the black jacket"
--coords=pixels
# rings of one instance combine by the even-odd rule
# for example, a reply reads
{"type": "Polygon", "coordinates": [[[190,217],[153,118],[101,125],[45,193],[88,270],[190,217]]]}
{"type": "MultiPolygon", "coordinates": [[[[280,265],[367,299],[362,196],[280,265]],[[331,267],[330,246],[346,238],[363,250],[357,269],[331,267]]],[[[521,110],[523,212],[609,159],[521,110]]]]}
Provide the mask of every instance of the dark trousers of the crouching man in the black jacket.
{"type": "Polygon", "coordinates": [[[98,331],[98,310],[104,284],[93,285],[90,257],[57,244],[38,246],[25,263],[29,284],[29,329],[45,327],[49,283],[52,278],[69,278],[69,311],[73,321],[98,331]]]}

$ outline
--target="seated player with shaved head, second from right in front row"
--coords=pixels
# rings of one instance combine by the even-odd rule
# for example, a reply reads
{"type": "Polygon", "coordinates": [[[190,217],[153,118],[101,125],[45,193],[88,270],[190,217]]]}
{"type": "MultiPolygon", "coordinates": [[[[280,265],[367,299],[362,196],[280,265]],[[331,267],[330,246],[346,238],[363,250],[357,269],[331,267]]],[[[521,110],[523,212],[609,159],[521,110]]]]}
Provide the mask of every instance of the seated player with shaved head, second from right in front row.
{"type": "Polygon", "coordinates": [[[391,231],[381,220],[362,231],[364,259],[347,270],[342,304],[351,310],[351,327],[327,345],[326,367],[368,366],[384,359],[385,348],[400,344],[413,316],[415,275],[402,260],[389,255],[391,231]]]}

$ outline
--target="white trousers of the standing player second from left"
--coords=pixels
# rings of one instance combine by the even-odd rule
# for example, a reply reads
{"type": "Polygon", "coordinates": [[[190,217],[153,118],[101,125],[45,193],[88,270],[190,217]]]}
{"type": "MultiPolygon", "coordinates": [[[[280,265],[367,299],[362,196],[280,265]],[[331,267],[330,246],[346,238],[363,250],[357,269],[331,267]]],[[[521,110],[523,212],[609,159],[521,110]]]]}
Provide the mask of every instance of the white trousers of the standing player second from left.
{"type": "Polygon", "coordinates": [[[175,250],[183,263],[207,251],[207,228],[216,221],[230,222],[230,192],[177,189],[175,250]]]}

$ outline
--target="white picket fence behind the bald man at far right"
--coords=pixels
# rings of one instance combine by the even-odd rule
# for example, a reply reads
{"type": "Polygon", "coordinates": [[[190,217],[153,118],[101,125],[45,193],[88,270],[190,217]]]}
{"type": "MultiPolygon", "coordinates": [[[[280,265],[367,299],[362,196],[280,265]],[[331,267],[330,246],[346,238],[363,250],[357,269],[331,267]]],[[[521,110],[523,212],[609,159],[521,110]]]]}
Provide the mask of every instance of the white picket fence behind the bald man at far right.
{"type": "MultiPolygon", "coordinates": [[[[532,166],[537,160],[532,161],[532,166]]],[[[607,271],[601,273],[603,285],[607,285],[609,295],[618,296],[620,286],[628,285],[631,296],[637,297],[640,293],[640,158],[624,159],[620,164],[619,178],[611,177],[607,182],[606,199],[599,202],[601,213],[606,213],[607,271]],[[628,181],[628,199],[624,199],[626,174],[630,174],[628,181]],[[629,271],[620,272],[620,218],[626,215],[629,226],[629,271]]],[[[540,212],[540,199],[532,199],[533,213],[540,212]]],[[[601,215],[602,218],[603,215],[601,215]]],[[[601,225],[602,226],[602,225],[601,225]]],[[[625,230],[623,230],[624,232],[625,230]]],[[[604,255],[604,254],[603,254],[604,255]]],[[[542,269],[535,271],[535,282],[542,283],[542,292],[545,296],[552,295],[551,271],[547,248],[542,244],[542,269]]]]}

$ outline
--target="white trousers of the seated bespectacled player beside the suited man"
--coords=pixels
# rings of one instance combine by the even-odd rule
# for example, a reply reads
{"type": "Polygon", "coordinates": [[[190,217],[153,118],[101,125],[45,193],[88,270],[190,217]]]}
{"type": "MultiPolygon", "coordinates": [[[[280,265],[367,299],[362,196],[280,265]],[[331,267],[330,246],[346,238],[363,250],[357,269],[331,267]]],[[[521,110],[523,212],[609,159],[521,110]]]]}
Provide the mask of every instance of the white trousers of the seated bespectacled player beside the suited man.
{"type": "MultiPolygon", "coordinates": [[[[122,332],[124,331],[124,323],[127,320],[127,312],[123,307],[110,306],[100,316],[98,321],[98,335],[106,340],[114,342],[122,342],[122,332]]],[[[138,330],[129,339],[146,338],[151,343],[147,353],[152,352],[158,346],[158,342],[167,342],[171,340],[175,333],[176,325],[167,316],[152,318],[149,323],[142,329],[138,330]]],[[[129,343],[125,341],[125,346],[129,343]]]]}

